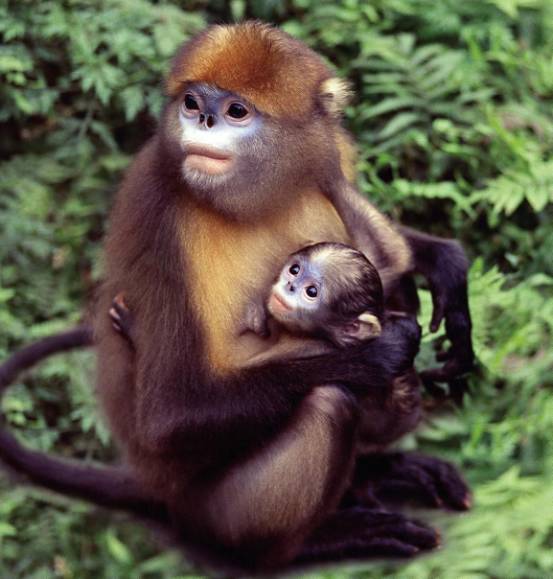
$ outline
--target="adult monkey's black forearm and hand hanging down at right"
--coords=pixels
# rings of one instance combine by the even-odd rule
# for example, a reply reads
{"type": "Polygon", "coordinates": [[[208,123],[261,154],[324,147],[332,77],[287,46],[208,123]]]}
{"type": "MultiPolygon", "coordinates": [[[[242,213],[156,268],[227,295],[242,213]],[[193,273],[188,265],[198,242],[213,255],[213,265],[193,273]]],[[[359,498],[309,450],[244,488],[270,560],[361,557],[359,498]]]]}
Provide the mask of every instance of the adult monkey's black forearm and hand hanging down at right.
{"type": "Polygon", "coordinates": [[[436,382],[448,382],[458,390],[462,386],[459,379],[474,363],[467,257],[457,241],[440,239],[408,227],[400,227],[400,231],[413,252],[415,271],[425,277],[432,294],[430,331],[436,332],[445,320],[446,335],[451,342],[448,351],[438,354],[438,360],[445,362],[444,365],[421,372],[421,378],[430,389],[436,382]]]}

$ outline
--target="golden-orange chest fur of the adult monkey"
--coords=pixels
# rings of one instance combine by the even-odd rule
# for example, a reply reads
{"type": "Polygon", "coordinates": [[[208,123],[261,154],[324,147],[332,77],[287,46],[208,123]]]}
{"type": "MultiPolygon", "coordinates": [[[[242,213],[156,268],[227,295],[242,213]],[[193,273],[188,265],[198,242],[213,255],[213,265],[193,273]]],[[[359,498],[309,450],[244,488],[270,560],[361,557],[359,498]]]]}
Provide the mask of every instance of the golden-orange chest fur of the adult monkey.
{"type": "Polygon", "coordinates": [[[187,204],[182,243],[187,287],[198,312],[208,356],[221,372],[243,366],[270,347],[240,323],[249,300],[265,300],[288,255],[321,241],[349,243],[344,223],[322,193],[298,193],[285,210],[258,223],[237,223],[187,204]]]}

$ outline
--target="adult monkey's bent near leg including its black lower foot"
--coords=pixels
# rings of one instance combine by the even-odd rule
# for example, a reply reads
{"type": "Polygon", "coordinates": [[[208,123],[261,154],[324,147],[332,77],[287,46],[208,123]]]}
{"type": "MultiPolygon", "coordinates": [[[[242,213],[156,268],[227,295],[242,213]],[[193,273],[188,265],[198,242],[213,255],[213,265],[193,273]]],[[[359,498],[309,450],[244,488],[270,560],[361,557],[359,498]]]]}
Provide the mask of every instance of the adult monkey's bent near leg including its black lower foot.
{"type": "Polygon", "coordinates": [[[436,546],[434,531],[398,514],[365,508],[333,514],[349,483],[356,429],[355,399],[338,386],[315,388],[266,449],[203,497],[192,493],[200,507],[186,506],[185,520],[195,513],[190,536],[203,527],[206,544],[213,548],[215,539],[253,570],[296,558],[406,556],[436,546]]]}

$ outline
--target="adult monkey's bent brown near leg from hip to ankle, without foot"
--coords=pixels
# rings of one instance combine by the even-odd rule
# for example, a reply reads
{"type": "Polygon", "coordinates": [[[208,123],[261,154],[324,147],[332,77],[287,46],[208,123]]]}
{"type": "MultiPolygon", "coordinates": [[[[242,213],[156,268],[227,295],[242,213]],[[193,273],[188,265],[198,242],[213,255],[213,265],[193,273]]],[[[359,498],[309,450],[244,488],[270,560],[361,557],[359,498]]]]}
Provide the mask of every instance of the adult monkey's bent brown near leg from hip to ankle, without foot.
{"type": "Polygon", "coordinates": [[[265,449],[192,493],[184,516],[188,522],[195,513],[190,535],[204,528],[208,547],[220,543],[252,570],[289,561],[338,503],[353,468],[356,429],[354,397],[335,386],[315,388],[265,449]]]}

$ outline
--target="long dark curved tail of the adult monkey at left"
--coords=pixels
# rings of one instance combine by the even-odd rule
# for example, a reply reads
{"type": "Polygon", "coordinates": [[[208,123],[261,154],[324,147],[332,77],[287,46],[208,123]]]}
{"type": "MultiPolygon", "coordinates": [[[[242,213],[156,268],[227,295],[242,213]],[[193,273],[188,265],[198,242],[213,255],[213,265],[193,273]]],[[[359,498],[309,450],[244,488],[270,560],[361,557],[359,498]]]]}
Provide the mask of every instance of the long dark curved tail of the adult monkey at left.
{"type": "MultiPolygon", "coordinates": [[[[23,347],[0,365],[0,398],[23,370],[52,354],[92,344],[92,330],[83,325],[23,347]]],[[[3,419],[0,462],[31,484],[156,522],[167,520],[164,506],[149,497],[125,469],[79,464],[31,450],[7,430],[3,419]]]]}

